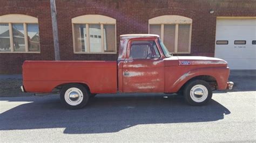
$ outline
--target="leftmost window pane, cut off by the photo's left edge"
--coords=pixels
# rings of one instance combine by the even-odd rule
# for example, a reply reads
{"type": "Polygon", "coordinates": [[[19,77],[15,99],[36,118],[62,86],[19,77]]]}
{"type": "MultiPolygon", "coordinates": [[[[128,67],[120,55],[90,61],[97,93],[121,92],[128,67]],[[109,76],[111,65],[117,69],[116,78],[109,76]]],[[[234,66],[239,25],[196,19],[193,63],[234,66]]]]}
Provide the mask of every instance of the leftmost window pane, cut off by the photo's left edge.
{"type": "Polygon", "coordinates": [[[9,24],[0,24],[0,52],[11,52],[9,24]]]}

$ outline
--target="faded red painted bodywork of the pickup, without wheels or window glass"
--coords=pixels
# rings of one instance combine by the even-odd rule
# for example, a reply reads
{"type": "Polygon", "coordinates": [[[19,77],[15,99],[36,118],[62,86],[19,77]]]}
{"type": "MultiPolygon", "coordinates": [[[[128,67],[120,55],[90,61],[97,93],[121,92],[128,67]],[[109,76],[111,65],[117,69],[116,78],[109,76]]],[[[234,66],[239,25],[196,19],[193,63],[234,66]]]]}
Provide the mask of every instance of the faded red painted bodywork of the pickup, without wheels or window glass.
{"type": "Polygon", "coordinates": [[[51,92],[66,83],[83,83],[92,93],[177,92],[193,77],[215,78],[218,89],[227,88],[227,62],[203,56],[166,58],[158,35],[121,35],[118,61],[25,61],[23,84],[29,92],[51,92]],[[130,58],[131,42],[153,40],[160,58],[130,58]]]}

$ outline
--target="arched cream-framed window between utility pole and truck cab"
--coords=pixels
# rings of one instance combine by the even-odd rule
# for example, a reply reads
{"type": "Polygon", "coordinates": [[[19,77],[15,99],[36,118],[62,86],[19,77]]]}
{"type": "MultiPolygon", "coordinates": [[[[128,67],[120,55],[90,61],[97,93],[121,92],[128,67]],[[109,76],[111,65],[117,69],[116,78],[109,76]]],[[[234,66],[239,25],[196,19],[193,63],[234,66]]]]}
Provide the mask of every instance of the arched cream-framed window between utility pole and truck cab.
{"type": "Polygon", "coordinates": [[[116,53],[116,19],[102,15],[72,18],[74,53],[116,53]]]}

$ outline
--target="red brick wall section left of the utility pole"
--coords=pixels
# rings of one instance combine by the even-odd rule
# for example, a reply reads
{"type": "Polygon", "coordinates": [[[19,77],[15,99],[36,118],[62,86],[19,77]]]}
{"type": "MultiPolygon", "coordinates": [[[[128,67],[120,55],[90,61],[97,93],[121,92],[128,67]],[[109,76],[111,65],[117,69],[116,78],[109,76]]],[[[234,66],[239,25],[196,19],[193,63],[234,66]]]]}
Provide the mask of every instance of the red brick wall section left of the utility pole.
{"type": "Polygon", "coordinates": [[[38,18],[40,54],[0,53],[0,74],[21,73],[25,60],[54,60],[50,1],[0,1],[0,16],[22,14],[38,18]]]}

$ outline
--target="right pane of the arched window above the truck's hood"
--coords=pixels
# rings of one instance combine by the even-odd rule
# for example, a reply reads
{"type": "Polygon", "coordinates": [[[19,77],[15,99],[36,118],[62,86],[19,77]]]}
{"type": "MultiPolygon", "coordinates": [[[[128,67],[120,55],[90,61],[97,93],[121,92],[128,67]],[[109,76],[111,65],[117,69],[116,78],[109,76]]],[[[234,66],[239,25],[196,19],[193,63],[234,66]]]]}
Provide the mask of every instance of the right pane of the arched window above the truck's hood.
{"type": "Polygon", "coordinates": [[[188,52],[190,47],[190,24],[179,24],[178,52],[188,52]]]}

